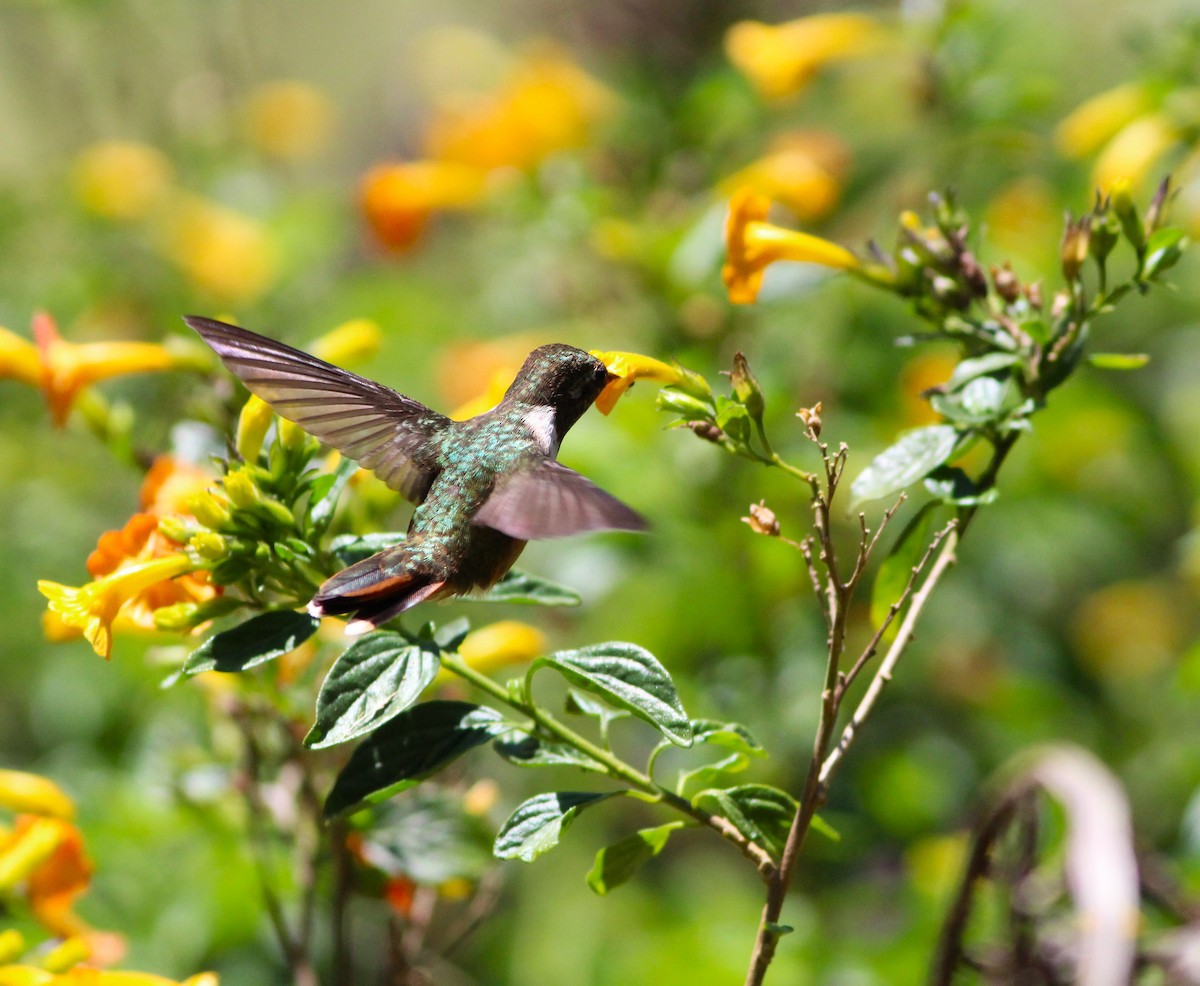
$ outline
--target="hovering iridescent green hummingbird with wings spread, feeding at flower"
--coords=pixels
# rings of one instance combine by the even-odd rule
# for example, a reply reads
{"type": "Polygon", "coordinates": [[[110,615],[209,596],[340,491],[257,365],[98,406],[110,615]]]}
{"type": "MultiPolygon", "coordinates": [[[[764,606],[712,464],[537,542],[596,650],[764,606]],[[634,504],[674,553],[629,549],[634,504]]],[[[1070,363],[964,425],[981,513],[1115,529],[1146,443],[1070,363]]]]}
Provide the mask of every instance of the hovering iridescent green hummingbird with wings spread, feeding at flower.
{"type": "Polygon", "coordinates": [[[403,542],[328,578],[314,617],[366,633],[419,602],[493,585],[527,541],[646,521],[558,463],[558,449],[614,374],[572,345],[534,349],[500,403],[454,421],[419,401],[236,325],[192,329],[281,417],[373,471],[416,504],[403,542]]]}

